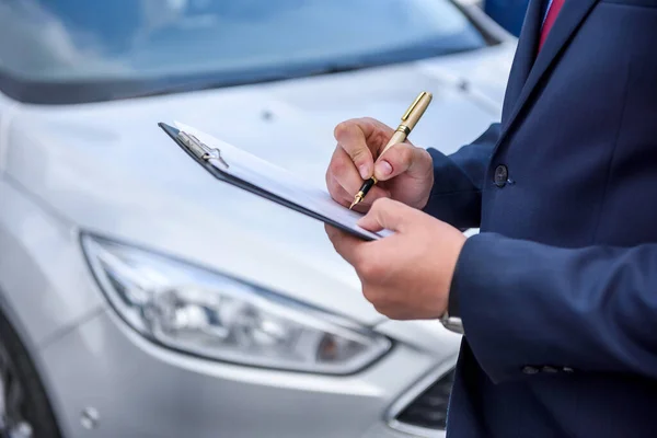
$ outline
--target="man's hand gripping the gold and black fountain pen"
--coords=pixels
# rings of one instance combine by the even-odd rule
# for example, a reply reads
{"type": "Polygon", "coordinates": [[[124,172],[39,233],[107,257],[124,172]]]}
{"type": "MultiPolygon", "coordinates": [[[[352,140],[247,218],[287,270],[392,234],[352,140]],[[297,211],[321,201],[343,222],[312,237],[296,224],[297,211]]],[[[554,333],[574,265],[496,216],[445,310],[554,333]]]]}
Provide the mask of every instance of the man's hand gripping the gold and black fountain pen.
{"type": "Polygon", "coordinates": [[[366,212],[382,197],[417,209],[426,206],[434,185],[431,155],[404,142],[379,158],[393,134],[394,129],[373,118],[351,119],[335,127],[337,147],[326,171],[326,186],[333,199],[348,207],[364,181],[373,175],[379,182],[355,210],[366,212]]]}

